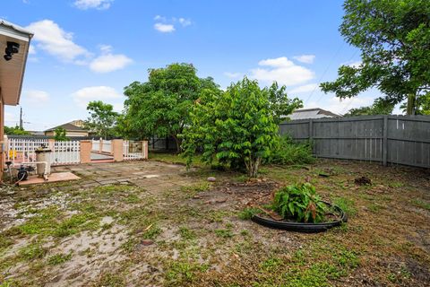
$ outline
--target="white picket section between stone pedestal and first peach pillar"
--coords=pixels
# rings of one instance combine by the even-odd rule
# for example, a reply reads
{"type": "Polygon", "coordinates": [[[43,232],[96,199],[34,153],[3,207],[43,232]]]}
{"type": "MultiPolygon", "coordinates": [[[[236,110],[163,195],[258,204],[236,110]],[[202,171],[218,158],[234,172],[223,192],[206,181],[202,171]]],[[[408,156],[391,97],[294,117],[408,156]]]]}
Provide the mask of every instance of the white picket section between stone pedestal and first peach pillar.
{"type": "Polygon", "coordinates": [[[79,141],[56,142],[51,147],[51,165],[77,164],[81,162],[79,141]]]}

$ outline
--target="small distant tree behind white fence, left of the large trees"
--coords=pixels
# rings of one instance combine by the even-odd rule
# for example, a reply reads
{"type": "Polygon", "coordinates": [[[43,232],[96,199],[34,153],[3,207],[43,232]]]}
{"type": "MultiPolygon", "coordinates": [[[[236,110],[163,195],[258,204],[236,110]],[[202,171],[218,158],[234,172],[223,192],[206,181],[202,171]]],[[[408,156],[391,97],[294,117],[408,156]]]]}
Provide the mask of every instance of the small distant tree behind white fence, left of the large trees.
{"type": "Polygon", "coordinates": [[[90,101],[87,106],[90,117],[85,121],[85,128],[107,138],[116,135],[116,120],[119,116],[114,107],[101,100],[90,101]]]}

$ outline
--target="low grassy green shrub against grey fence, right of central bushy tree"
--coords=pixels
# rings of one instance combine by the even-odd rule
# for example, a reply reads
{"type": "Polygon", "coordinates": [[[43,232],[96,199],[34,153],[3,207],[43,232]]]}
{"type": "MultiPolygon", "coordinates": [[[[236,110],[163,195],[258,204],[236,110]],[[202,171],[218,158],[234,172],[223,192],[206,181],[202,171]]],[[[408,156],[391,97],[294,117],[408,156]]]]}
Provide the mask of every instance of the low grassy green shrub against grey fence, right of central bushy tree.
{"type": "Polygon", "coordinates": [[[266,163],[305,164],[315,161],[312,143],[294,143],[291,137],[280,136],[266,163]]]}

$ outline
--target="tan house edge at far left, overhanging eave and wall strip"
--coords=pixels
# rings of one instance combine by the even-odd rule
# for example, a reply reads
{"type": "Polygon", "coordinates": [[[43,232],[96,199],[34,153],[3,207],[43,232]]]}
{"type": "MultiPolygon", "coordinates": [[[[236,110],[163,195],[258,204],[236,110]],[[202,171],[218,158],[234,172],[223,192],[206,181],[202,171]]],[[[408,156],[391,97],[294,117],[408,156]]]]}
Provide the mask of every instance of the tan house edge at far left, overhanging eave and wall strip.
{"type": "MultiPolygon", "coordinates": [[[[20,103],[25,65],[33,33],[0,19],[0,141],[4,143],[4,105],[20,103]]],[[[0,144],[0,181],[4,170],[4,144],[0,144]]]]}

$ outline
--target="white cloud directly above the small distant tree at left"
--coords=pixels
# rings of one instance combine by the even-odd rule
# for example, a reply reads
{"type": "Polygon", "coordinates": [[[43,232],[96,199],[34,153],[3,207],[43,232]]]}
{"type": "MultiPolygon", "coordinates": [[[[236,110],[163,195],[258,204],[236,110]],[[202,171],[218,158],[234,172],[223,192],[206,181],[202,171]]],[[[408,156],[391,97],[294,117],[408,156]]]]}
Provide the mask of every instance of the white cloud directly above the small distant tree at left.
{"type": "Polygon", "coordinates": [[[103,100],[105,102],[122,100],[123,96],[112,87],[95,86],[86,87],[72,94],[73,100],[81,108],[86,109],[91,100],[103,100]]]}

